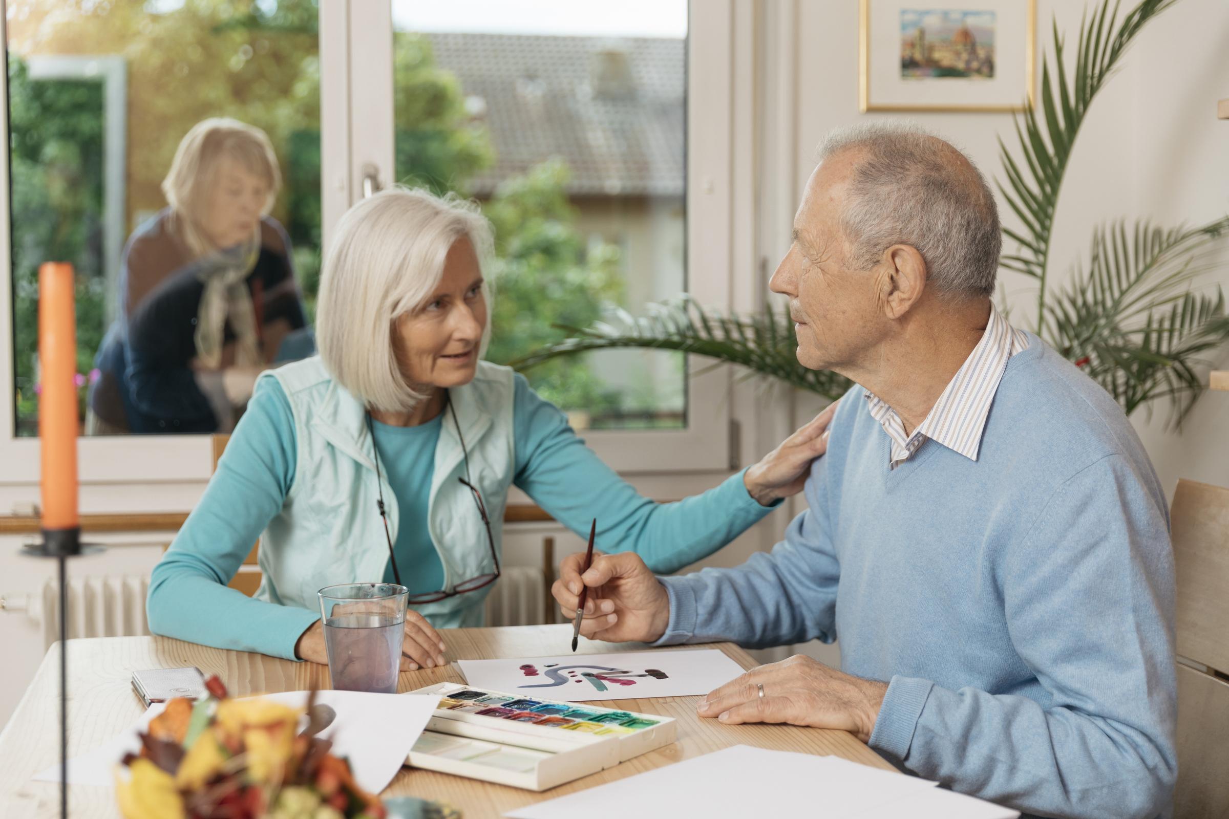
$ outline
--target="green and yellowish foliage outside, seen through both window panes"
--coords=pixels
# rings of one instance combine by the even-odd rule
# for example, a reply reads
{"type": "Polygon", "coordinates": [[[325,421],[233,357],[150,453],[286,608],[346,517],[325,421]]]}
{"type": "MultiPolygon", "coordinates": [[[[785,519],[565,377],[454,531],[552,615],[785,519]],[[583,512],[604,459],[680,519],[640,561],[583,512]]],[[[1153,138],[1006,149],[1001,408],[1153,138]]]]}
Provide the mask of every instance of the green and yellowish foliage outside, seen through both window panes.
{"type": "MultiPolygon", "coordinates": [[[[54,0],[10,2],[10,17],[20,21],[10,23],[10,54],[17,56],[9,65],[18,435],[37,433],[38,264],[58,259],[76,266],[82,375],[91,371],[107,329],[108,297],[101,246],[102,86],[31,81],[20,59],[23,49],[125,58],[127,231],[165,206],[159,183],[197,122],[229,115],[264,129],[285,180],[273,215],[290,233],[311,319],[321,266],[317,11],[315,0],[186,0],[166,14],[136,2],[98,4],[73,15],[54,0]]],[[[465,108],[455,75],[435,64],[425,37],[397,34],[395,76],[398,178],[467,195],[468,180],[494,155],[485,126],[465,108]]],[[[562,339],[554,324],[587,324],[603,301],[623,298],[618,249],[589,242],[576,230],[567,179],[567,167],[548,162],[506,180],[484,205],[498,237],[493,361],[509,362],[562,339]]],[[[605,387],[583,357],[528,376],[565,409],[600,414],[637,398],[605,387]]]]}

